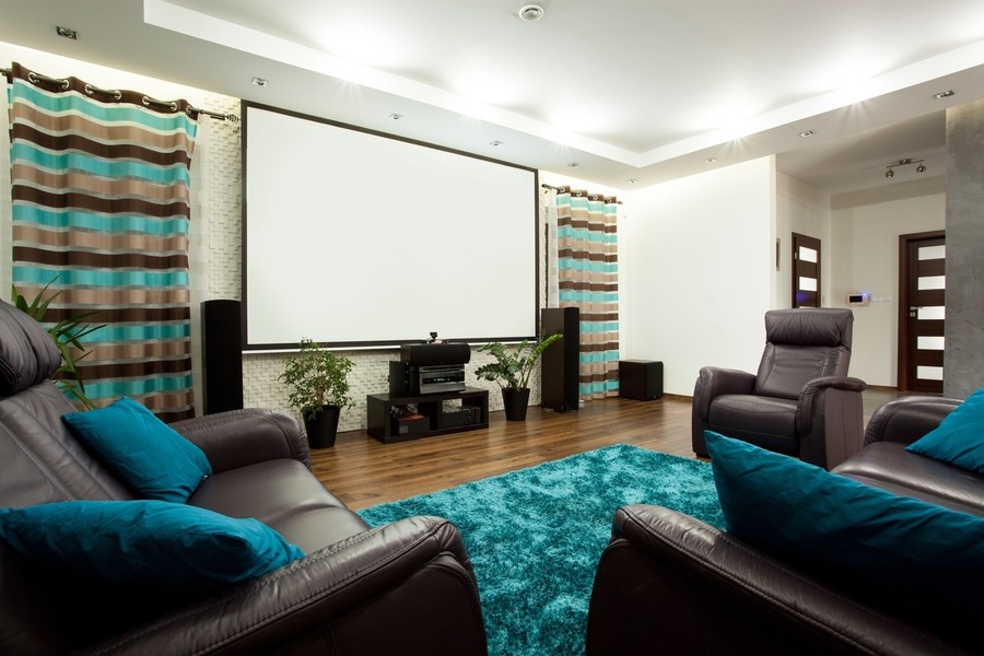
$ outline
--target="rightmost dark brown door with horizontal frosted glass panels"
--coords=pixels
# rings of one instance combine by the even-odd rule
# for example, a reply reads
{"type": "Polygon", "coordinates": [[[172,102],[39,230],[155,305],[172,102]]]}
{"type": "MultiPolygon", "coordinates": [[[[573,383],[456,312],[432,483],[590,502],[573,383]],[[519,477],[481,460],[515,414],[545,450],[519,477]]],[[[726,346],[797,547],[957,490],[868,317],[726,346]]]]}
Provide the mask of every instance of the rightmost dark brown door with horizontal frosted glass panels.
{"type": "Polygon", "coordinates": [[[945,233],[899,236],[899,389],[942,393],[945,233]]]}

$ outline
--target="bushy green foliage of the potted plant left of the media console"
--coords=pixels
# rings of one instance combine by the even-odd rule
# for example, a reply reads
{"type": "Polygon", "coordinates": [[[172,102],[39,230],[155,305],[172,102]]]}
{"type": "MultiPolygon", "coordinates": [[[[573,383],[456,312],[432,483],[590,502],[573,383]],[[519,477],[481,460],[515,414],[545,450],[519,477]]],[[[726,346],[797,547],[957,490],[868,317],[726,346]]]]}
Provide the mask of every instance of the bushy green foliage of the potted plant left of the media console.
{"type": "Polygon", "coordinates": [[[321,349],[314,340],[302,339],[301,351],[284,360],[279,379],[290,388],[291,406],[304,419],[314,419],[325,406],[351,408],[349,372],[353,363],[343,355],[321,349]]]}

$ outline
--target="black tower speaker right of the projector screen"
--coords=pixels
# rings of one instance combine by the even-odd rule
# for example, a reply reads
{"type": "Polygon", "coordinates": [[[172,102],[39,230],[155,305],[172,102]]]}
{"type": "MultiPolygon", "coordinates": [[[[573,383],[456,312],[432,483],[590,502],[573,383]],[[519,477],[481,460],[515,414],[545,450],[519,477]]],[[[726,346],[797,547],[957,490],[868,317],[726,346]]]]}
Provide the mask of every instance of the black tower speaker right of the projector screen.
{"type": "Polygon", "coordinates": [[[544,335],[560,332],[540,359],[540,406],[558,412],[577,410],[581,386],[581,311],[547,307],[540,315],[544,335]]]}

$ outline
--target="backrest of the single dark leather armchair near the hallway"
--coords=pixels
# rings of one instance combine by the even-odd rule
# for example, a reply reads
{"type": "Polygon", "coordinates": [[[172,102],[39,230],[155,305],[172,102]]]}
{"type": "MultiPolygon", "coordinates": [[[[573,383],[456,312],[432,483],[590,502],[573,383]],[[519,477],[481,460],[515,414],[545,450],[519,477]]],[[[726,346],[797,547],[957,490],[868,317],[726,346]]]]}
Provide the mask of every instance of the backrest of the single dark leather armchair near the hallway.
{"type": "Polygon", "coordinates": [[[771,309],[755,394],[796,399],[807,383],[846,376],[854,314],[850,309],[771,309]]]}

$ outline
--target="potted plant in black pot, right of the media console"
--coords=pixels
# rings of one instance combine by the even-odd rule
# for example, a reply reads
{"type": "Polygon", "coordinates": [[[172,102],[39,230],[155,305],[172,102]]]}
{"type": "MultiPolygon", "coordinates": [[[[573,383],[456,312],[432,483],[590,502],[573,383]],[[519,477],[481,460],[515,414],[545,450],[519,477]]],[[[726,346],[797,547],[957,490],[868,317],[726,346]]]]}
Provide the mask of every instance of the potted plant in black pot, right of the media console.
{"type": "Polygon", "coordinates": [[[547,347],[561,337],[563,336],[560,332],[550,336],[541,333],[536,340],[523,340],[515,349],[508,349],[502,342],[490,342],[479,348],[480,352],[491,353],[495,362],[478,367],[475,375],[482,380],[497,383],[502,388],[502,403],[507,420],[526,419],[526,409],[529,406],[529,376],[534,365],[547,347]]]}

